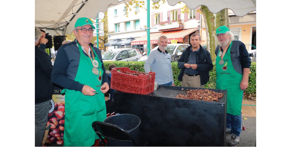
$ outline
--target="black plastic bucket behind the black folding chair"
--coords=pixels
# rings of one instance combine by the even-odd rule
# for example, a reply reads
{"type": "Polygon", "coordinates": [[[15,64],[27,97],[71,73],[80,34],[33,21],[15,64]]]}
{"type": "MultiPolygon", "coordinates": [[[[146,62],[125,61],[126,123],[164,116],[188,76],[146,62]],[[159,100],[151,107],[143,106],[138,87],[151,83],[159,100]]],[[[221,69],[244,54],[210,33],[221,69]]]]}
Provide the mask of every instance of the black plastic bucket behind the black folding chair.
{"type": "MultiPolygon", "coordinates": [[[[107,117],[104,123],[110,123],[127,130],[136,144],[139,144],[139,126],[141,119],[133,114],[118,114],[107,117]]],[[[107,138],[107,146],[134,146],[132,142],[107,138]]]]}

